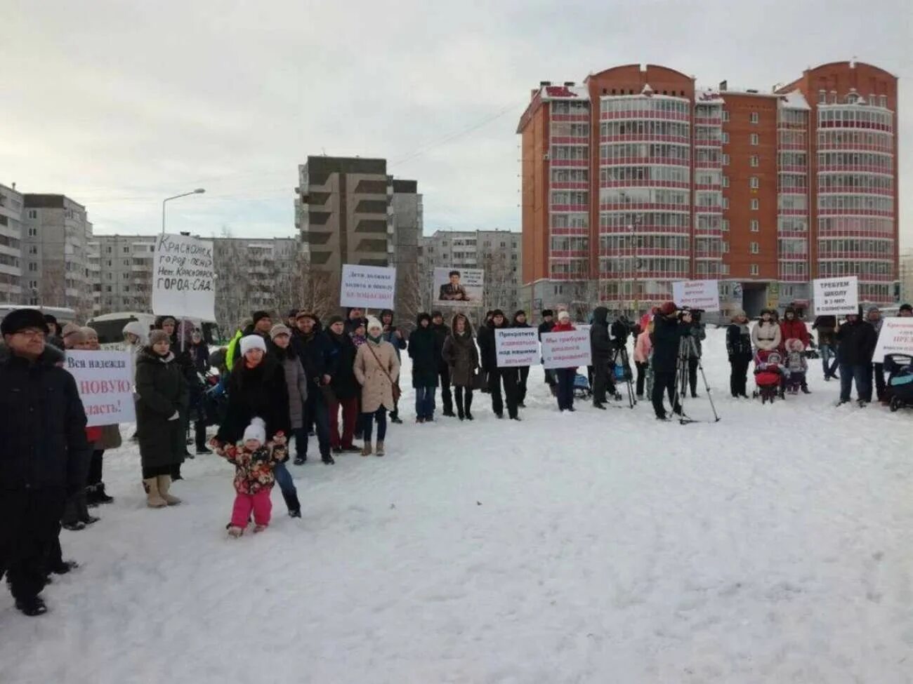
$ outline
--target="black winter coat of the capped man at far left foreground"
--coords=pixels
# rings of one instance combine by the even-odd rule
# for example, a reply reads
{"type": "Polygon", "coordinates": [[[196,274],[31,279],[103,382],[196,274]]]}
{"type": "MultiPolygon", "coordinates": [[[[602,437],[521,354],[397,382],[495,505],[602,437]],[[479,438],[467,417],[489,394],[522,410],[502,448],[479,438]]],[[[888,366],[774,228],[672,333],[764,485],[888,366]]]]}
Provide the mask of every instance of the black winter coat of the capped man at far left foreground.
{"type": "Polygon", "coordinates": [[[0,364],[0,490],[75,492],[85,483],[86,414],[73,376],[51,358],[10,354],[0,364]]]}

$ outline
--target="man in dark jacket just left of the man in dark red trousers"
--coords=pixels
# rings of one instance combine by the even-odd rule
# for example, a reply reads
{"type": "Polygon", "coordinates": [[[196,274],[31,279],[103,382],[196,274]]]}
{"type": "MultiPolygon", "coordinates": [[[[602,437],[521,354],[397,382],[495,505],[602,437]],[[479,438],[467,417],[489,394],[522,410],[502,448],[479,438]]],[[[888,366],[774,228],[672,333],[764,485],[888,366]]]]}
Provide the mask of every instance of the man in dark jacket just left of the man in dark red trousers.
{"type": "MultiPolygon", "coordinates": [[[[317,329],[317,316],[306,311],[299,313],[296,319],[298,335],[292,337],[291,344],[304,367],[308,378],[308,399],[304,404],[304,425],[313,425],[320,444],[320,459],[331,465],[330,453],[330,411],[324,396],[325,388],[331,384],[333,366],[330,343],[327,337],[317,329]]],[[[305,433],[307,434],[307,433],[305,433]]],[[[296,445],[297,448],[297,445],[296,445]]],[[[295,465],[307,461],[308,444],[295,458],[295,465]]]]}

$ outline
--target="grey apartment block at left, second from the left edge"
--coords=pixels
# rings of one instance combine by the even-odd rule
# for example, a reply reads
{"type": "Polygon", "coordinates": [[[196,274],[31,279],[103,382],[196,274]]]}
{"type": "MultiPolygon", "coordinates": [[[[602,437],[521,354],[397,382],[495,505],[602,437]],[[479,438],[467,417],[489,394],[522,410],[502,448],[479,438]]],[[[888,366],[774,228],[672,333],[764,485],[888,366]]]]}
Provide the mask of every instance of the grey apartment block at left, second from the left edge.
{"type": "Polygon", "coordinates": [[[22,213],[22,273],[27,304],[65,306],[89,316],[92,224],[86,208],[66,195],[25,194],[22,213]]]}

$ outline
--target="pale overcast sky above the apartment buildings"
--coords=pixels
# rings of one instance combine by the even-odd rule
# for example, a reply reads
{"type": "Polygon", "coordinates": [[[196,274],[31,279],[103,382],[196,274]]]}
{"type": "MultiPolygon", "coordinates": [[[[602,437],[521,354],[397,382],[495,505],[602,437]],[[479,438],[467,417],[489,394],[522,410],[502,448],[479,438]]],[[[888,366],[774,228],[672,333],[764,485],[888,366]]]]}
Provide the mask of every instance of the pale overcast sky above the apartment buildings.
{"type": "Polygon", "coordinates": [[[0,182],[97,233],[294,233],[309,154],[385,157],[425,233],[519,229],[519,115],[540,80],[632,62],[769,90],[856,57],[900,85],[913,246],[909,0],[0,0],[0,182]],[[906,143],[905,141],[906,140],[906,143]]]}

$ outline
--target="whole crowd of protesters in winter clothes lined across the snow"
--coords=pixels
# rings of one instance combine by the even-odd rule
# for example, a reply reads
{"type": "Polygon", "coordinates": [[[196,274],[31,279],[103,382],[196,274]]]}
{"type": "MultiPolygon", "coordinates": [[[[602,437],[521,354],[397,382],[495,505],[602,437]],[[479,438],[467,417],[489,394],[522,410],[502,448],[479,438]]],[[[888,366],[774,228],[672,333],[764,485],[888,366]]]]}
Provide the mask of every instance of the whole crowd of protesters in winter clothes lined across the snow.
{"type": "MultiPolygon", "coordinates": [[[[901,306],[900,315],[913,316],[913,310],[901,306]]],[[[637,399],[649,397],[658,420],[670,417],[666,400],[673,414],[681,414],[683,393],[698,396],[706,337],[698,312],[667,302],[637,323],[624,316],[610,323],[608,309],[597,306],[589,326],[586,375],[573,367],[545,373],[561,412],[575,410],[581,381],[583,396],[595,409],[621,399],[618,384],[628,383],[637,399]],[[632,337],[633,368],[626,351],[632,337]]],[[[865,316],[846,316],[839,325],[834,316],[815,319],[824,379],[839,379],[841,403],[851,399],[854,383],[858,401],[871,401],[873,377],[876,398],[885,399],[884,370],[873,362],[880,326],[876,307],[865,316]]],[[[257,311],[227,347],[210,354],[201,331],[186,321],[159,316],[150,330],[133,321],[124,326],[123,337],[135,380],[131,439],[139,444],[146,503],[152,509],[181,503],[172,487],[182,479],[182,463],[215,451],[236,470],[229,534],[243,535],[251,518],[255,532],[268,528],[275,484],[289,515],[300,517],[289,460],[305,463],[313,438],[327,465],[345,452],[383,457],[388,423],[403,422],[399,373],[404,352],[412,361],[417,424],[437,420],[438,388],[444,417],[475,420],[473,399],[482,392],[498,419],[506,413],[521,420],[530,368],[498,363],[497,333],[529,327],[524,311],[510,319],[501,310],[489,311],[475,335],[460,312],[449,325],[440,311],[419,314],[407,335],[394,325],[390,310],[375,317],[352,308],[326,321],[293,310],[276,322],[270,312],[257,311]],[[210,372],[213,367],[217,375],[210,372]],[[187,450],[191,424],[194,453],[187,450]],[[217,426],[212,438],[207,437],[210,425],[217,426]]],[[[538,333],[575,327],[568,311],[555,316],[544,310],[538,333]]],[[[24,308],[5,316],[2,334],[0,509],[7,523],[0,526],[0,573],[16,606],[33,616],[47,609],[39,594],[50,575],[76,566],[63,558],[61,528],[79,531],[97,523],[92,509],[113,501],[103,481],[103,457],[121,446],[121,431],[118,425],[87,427],[76,383],[63,368],[67,350],[100,349],[93,329],[72,323],[60,328],[53,316],[24,308]]],[[[753,325],[737,311],[726,343],[732,397],[748,397],[752,360],[757,367],[782,368],[782,392],[811,392],[805,351],[814,344],[794,309],[787,308],[782,320],[775,310],[764,309],[753,325]]]]}

